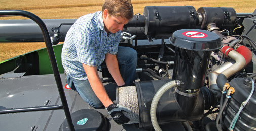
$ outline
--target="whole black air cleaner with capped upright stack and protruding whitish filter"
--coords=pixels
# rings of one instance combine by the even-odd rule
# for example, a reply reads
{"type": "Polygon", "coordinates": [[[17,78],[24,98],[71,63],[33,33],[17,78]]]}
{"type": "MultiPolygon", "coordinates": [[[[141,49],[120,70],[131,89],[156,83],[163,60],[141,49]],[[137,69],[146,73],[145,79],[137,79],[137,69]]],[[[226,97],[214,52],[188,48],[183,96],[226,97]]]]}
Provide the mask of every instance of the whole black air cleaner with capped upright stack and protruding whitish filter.
{"type": "Polygon", "coordinates": [[[161,96],[157,96],[156,92],[171,79],[136,82],[129,91],[123,91],[127,87],[117,89],[117,102],[135,112],[127,117],[132,123],[139,123],[139,128],[152,126],[150,110],[155,97],[161,97],[155,104],[154,116],[158,124],[199,120],[204,114],[205,105],[209,108],[214,104],[213,93],[207,88],[200,88],[205,83],[211,51],[222,47],[220,37],[209,31],[185,29],[175,31],[169,42],[177,46],[173,76],[176,81],[182,81],[182,86],[177,84],[178,87],[162,92],[161,96]]]}

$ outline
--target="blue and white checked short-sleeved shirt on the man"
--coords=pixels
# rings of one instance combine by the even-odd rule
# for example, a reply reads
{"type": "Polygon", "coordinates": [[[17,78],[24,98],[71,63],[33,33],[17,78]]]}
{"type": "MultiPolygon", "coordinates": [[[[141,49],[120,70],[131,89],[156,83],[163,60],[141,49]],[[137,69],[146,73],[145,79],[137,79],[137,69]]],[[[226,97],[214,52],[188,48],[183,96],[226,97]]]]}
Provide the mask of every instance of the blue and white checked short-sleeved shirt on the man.
{"type": "Polygon", "coordinates": [[[62,65],[72,78],[87,80],[82,63],[101,68],[105,55],[117,54],[121,31],[107,36],[102,12],[80,17],[68,30],[62,48],[62,65]]]}

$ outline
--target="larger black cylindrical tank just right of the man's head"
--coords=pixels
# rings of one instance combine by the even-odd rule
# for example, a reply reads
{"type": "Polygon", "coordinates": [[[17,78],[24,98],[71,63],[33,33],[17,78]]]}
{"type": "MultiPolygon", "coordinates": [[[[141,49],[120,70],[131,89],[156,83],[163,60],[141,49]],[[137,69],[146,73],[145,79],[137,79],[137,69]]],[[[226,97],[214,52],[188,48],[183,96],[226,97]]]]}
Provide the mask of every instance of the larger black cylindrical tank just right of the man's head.
{"type": "Polygon", "coordinates": [[[195,28],[196,10],[193,6],[146,6],[145,35],[169,38],[179,29],[195,28]]]}

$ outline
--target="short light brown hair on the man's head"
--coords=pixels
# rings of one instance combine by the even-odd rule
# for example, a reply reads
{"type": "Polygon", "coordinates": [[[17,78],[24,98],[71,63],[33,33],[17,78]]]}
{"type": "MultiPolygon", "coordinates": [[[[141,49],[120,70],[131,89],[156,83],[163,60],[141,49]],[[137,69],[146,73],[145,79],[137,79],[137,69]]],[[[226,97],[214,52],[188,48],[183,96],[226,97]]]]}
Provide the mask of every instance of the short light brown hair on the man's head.
{"type": "Polygon", "coordinates": [[[133,7],[130,0],[105,0],[102,12],[105,9],[112,16],[121,16],[128,20],[133,18],[133,7]]]}

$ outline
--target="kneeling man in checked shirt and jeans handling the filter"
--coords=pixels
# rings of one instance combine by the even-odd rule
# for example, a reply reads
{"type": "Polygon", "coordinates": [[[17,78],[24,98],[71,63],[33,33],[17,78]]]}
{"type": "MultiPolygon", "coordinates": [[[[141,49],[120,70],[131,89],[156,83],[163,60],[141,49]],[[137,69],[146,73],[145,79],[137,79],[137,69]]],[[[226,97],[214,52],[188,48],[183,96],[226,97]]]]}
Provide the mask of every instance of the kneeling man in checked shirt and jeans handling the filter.
{"type": "Polygon", "coordinates": [[[82,16],[72,25],[61,55],[69,87],[92,107],[104,106],[118,124],[129,121],[122,110],[131,110],[111,101],[97,69],[107,67],[118,86],[133,84],[137,53],[129,47],[118,47],[123,26],[132,17],[130,0],[106,0],[102,12],[82,16]]]}

